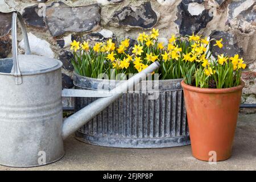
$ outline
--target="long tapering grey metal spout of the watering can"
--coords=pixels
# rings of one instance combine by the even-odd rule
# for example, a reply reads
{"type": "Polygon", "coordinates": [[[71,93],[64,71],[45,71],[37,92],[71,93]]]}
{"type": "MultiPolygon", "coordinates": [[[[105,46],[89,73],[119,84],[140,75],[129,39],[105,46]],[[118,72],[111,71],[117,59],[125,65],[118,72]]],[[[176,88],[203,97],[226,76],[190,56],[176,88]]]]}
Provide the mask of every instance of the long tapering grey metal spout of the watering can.
{"type": "Polygon", "coordinates": [[[94,118],[98,113],[112,104],[112,102],[121,97],[123,93],[126,93],[127,90],[133,89],[134,85],[137,85],[140,81],[145,80],[147,78],[147,74],[154,72],[155,69],[159,67],[160,64],[158,62],[152,63],[149,67],[143,69],[142,72],[136,74],[129,80],[111,90],[109,97],[99,98],[83,109],[77,111],[77,113],[65,119],[62,130],[63,139],[67,138],[86,122],[90,121],[90,119],[94,118]]]}

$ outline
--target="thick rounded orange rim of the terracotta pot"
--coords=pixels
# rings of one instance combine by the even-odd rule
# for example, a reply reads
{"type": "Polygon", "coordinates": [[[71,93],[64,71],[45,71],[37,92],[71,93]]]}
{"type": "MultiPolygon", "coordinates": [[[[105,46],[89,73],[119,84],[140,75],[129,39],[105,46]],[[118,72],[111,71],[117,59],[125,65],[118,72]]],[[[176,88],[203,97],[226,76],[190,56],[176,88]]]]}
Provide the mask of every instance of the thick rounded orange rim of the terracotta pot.
{"type": "Polygon", "coordinates": [[[230,92],[237,92],[238,90],[242,90],[245,86],[245,82],[241,80],[241,84],[238,86],[234,86],[231,88],[224,88],[224,89],[212,89],[212,88],[199,88],[196,86],[191,86],[185,84],[184,80],[181,81],[181,86],[183,89],[190,90],[192,92],[200,92],[200,93],[230,93],[230,92]]]}

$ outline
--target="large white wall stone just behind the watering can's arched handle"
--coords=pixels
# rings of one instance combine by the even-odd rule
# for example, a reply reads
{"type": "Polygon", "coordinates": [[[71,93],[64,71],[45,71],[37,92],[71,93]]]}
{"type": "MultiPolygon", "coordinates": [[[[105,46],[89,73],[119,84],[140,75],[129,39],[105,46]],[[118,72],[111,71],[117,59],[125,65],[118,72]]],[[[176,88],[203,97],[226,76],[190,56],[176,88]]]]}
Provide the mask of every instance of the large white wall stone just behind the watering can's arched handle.
{"type": "MultiPolygon", "coordinates": [[[[54,52],[51,49],[51,44],[46,40],[39,39],[31,32],[28,33],[28,42],[30,43],[31,53],[39,56],[46,56],[49,58],[54,58],[54,52]]],[[[24,49],[24,39],[20,41],[19,47],[24,49]]]]}

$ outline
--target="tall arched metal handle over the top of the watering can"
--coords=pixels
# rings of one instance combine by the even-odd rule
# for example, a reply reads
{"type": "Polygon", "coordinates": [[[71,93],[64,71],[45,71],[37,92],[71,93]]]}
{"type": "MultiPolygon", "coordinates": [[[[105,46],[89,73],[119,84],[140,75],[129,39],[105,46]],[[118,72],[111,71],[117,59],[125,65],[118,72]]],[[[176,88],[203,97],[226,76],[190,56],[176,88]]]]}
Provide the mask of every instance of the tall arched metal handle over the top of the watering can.
{"type": "Polygon", "coordinates": [[[11,23],[11,35],[13,36],[13,73],[15,76],[15,84],[22,84],[22,75],[19,69],[19,60],[18,60],[18,43],[17,43],[17,18],[20,23],[20,28],[22,30],[22,35],[25,44],[25,54],[30,55],[30,44],[28,43],[27,31],[25,28],[25,24],[22,19],[22,15],[19,12],[13,13],[13,22],[11,23]]]}

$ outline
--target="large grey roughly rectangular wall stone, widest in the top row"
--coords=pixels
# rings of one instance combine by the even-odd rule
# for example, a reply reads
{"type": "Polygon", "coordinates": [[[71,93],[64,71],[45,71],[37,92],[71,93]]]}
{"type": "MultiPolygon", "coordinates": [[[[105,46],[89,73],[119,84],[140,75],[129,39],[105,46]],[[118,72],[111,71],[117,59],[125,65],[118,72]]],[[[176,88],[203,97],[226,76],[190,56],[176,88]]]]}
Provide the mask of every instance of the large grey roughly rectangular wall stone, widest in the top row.
{"type": "Polygon", "coordinates": [[[55,2],[46,9],[46,24],[52,36],[65,32],[89,32],[100,25],[100,11],[98,4],[71,7],[55,2]]]}

